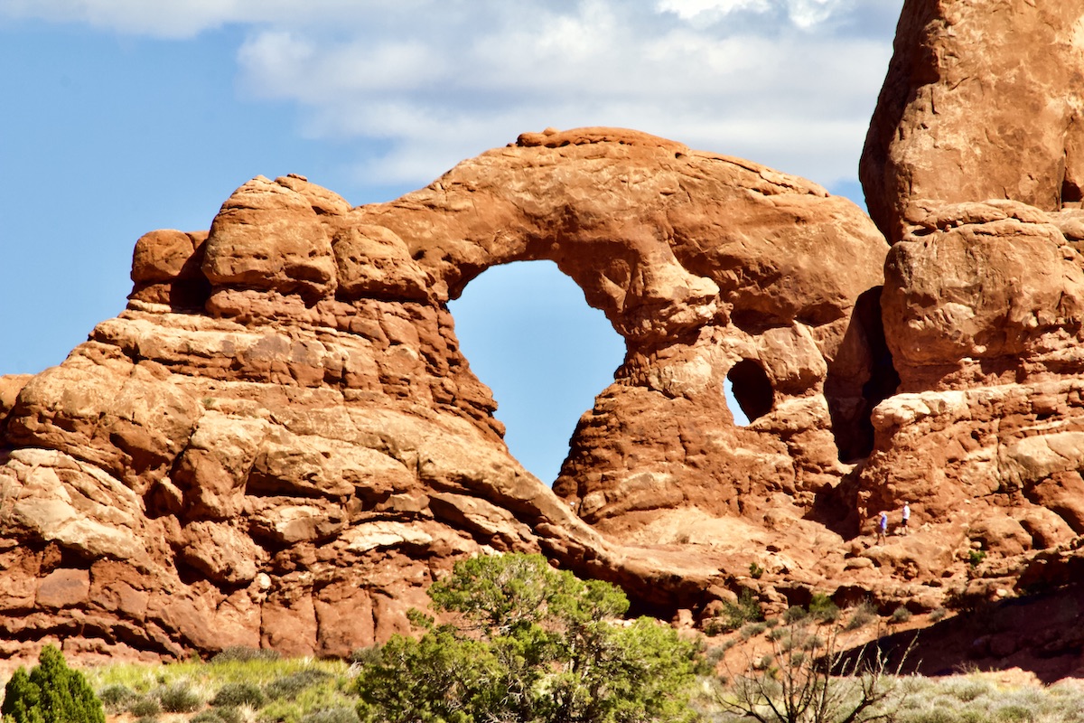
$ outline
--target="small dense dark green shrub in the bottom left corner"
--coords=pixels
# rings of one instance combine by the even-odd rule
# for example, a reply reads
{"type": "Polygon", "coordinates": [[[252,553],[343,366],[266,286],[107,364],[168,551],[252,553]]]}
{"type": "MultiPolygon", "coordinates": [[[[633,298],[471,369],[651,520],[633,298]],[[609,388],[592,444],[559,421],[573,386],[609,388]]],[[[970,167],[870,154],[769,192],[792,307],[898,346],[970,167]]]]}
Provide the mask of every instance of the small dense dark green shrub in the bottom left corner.
{"type": "Polygon", "coordinates": [[[41,648],[29,673],[20,668],[12,674],[0,715],[13,723],[105,723],[102,701],[87,679],[52,645],[41,648]]]}

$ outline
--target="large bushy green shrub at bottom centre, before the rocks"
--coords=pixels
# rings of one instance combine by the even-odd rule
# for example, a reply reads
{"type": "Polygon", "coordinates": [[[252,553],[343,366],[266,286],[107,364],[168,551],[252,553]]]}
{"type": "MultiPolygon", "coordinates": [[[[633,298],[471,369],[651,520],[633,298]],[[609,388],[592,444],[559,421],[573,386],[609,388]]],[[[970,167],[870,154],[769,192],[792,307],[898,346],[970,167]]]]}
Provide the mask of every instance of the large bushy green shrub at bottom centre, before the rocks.
{"type": "Polygon", "coordinates": [[[363,721],[687,721],[697,645],[641,618],[614,624],[629,601],[541,555],[456,563],[429,589],[434,608],[463,629],[423,624],[393,636],[357,679],[363,721]]]}

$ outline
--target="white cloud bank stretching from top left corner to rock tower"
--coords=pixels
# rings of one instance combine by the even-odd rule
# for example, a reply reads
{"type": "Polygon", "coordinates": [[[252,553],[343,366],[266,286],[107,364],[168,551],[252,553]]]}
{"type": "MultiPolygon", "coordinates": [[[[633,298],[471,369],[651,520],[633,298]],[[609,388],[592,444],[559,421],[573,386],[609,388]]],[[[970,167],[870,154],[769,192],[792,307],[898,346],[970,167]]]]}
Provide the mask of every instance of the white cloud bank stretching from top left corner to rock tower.
{"type": "Polygon", "coordinates": [[[421,185],[519,132],[582,125],[831,184],[856,175],[900,5],[0,0],[0,14],[175,38],[243,24],[243,91],[297,104],[306,134],[358,143],[358,164],[379,142],[386,153],[358,169],[373,185],[421,185]]]}

